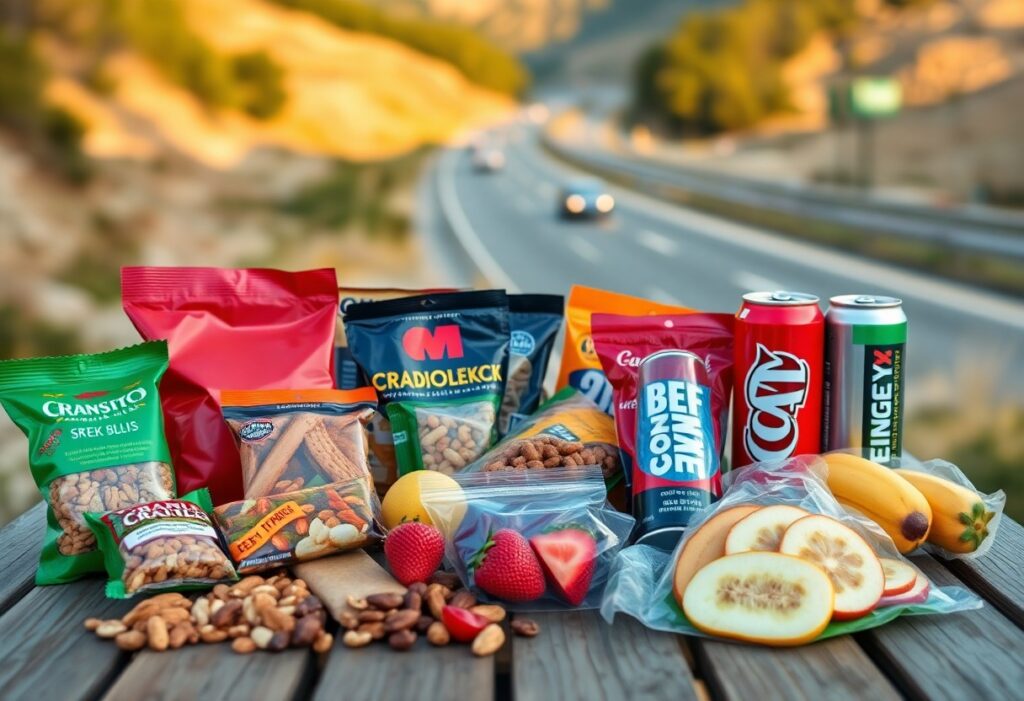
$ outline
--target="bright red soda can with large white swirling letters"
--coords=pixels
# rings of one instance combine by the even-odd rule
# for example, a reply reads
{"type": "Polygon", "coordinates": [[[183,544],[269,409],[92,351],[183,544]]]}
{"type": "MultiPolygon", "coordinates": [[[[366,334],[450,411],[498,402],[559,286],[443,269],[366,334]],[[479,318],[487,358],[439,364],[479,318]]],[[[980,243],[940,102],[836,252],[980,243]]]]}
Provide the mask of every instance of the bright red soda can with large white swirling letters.
{"type": "Polygon", "coordinates": [[[733,350],[733,467],[821,452],[824,333],[814,295],[743,295],[733,350]]]}

